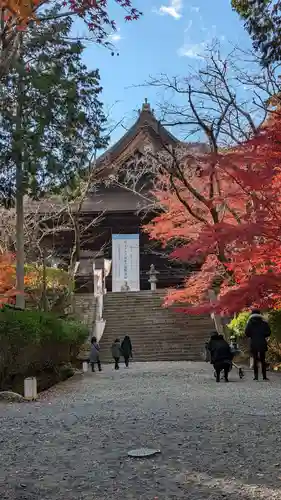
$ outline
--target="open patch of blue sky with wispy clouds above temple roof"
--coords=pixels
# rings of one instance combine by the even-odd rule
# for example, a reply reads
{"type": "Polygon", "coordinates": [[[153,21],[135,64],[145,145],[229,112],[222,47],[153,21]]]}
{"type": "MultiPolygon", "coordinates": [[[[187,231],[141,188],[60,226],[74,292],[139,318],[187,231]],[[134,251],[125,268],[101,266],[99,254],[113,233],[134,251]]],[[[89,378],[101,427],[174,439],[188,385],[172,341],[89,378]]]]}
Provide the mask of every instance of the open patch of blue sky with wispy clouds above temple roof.
{"type": "MultiPolygon", "coordinates": [[[[114,2],[115,3],[115,2],[114,2]]],[[[147,97],[157,110],[159,91],[137,87],[150,75],[168,73],[184,76],[188,66],[200,64],[200,53],[212,39],[220,40],[227,52],[232,44],[250,47],[243,24],[230,7],[230,0],[133,0],[143,11],[139,21],[124,22],[124,12],[115,6],[111,17],[118,31],[112,41],[119,56],[95,45],[85,51],[89,68],[99,68],[104,88],[103,101],[111,109],[111,120],[123,119],[125,127],[137,117],[137,109],[147,97]]],[[[112,134],[117,140],[124,128],[112,134]]]]}

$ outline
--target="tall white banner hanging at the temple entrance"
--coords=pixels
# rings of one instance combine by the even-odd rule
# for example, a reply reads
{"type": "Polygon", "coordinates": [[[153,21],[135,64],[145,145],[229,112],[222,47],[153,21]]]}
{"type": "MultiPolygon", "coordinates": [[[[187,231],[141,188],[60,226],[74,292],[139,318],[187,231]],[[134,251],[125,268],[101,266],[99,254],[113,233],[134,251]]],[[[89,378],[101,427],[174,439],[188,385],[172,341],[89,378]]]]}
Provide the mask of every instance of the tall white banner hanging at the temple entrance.
{"type": "Polygon", "coordinates": [[[112,291],[140,289],[140,248],[138,234],[112,235],[112,291]]]}

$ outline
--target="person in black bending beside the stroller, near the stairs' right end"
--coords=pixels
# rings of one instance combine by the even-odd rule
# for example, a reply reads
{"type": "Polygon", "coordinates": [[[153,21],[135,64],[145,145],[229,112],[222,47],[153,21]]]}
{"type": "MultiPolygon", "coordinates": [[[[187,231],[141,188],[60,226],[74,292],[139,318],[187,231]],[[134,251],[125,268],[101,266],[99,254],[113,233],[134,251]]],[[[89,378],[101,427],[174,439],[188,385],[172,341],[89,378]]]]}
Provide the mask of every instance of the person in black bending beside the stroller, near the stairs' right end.
{"type": "Polygon", "coordinates": [[[224,380],[225,382],[228,382],[228,374],[231,369],[233,359],[230,345],[222,335],[219,335],[217,332],[213,332],[208,344],[208,349],[211,355],[211,363],[213,364],[216,372],[216,381],[220,382],[221,371],[224,371],[224,380]]]}

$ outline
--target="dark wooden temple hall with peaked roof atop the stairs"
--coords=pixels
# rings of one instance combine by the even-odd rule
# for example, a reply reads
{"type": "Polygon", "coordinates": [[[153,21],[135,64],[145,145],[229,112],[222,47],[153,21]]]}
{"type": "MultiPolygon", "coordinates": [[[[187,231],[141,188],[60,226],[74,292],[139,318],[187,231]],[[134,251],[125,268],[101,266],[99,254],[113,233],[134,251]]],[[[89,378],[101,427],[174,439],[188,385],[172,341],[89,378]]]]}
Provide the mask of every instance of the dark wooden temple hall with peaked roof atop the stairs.
{"type": "MultiPolygon", "coordinates": [[[[148,290],[152,264],[157,271],[157,288],[182,284],[187,267],[171,262],[160,245],[142,231],[142,226],[155,216],[138,194],[144,183],[149,182],[145,169],[138,179],[139,189],[128,189],[119,182],[120,175],[128,174],[130,168],[138,170],[138,165],[143,168],[141,158],[146,147],[155,151],[163,144],[175,147],[178,142],[160,125],[145,100],[134,125],[97,160],[96,168],[102,172],[103,180],[85,197],[79,217],[86,224],[98,217],[100,220],[81,236],[75,275],[77,292],[94,291],[97,270],[109,292],[148,290]],[[121,172],[118,181],[114,180],[117,171],[121,172]]],[[[54,240],[61,262],[66,262],[70,254],[70,239],[69,234],[62,233],[54,240]]]]}

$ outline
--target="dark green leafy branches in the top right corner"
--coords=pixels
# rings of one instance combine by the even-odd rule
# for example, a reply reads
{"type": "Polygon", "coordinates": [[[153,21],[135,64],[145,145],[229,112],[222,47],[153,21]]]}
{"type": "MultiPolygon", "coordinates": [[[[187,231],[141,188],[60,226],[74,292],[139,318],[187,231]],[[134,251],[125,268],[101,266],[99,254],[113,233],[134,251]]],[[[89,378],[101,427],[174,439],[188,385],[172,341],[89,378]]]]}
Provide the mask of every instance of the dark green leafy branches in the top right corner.
{"type": "Polygon", "coordinates": [[[268,66],[281,60],[281,1],[231,0],[234,10],[245,22],[254,49],[262,64],[268,66]]]}

